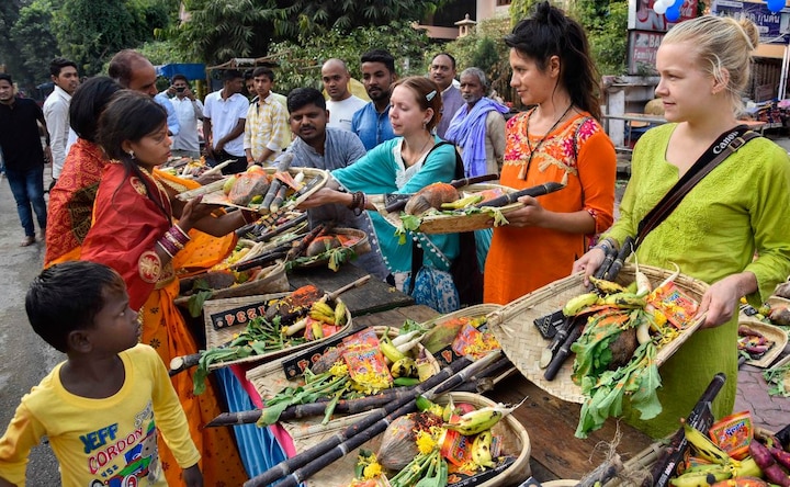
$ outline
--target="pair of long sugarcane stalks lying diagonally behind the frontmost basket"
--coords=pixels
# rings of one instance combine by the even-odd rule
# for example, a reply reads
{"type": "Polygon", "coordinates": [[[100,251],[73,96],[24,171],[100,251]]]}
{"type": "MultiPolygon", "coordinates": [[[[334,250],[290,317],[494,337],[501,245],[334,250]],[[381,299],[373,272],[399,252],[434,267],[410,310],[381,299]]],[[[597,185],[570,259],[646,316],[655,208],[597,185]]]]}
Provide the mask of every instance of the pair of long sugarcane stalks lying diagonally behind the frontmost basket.
{"type": "MultiPolygon", "coordinates": [[[[375,437],[380,432],[384,431],[392,419],[403,416],[414,409],[416,409],[415,398],[420,394],[430,396],[429,398],[436,397],[439,394],[443,394],[447,390],[458,387],[471,377],[473,374],[488,366],[493,361],[498,359],[501,353],[490,353],[485,358],[472,363],[469,359],[462,358],[452,362],[447,367],[439,371],[438,374],[430,377],[422,384],[414,388],[414,395],[410,398],[393,400],[382,408],[372,410],[368,416],[349,426],[348,428],[338,431],[332,437],[321,441],[311,449],[305,450],[302,453],[292,456],[262,474],[251,478],[245,483],[245,487],[264,486],[289,476],[290,482],[295,482],[298,485],[305,478],[303,475],[312,475],[315,472],[327,466],[329,463],[341,457],[347,452],[353,450],[348,449],[349,439],[357,438],[362,440],[359,444],[364,443],[369,439],[375,437]],[[395,416],[397,415],[397,416],[395,416]],[[369,431],[370,430],[370,431],[369,431]],[[373,433],[373,431],[376,431],[373,433]],[[364,434],[362,434],[364,433],[364,434]],[[329,452],[329,453],[327,453],[329,452]],[[337,455],[337,456],[336,456],[337,455]],[[315,468],[314,472],[301,471],[298,477],[294,477],[292,473],[296,469],[301,469],[305,465],[313,464],[311,469],[315,468]]],[[[356,448],[356,446],[354,446],[356,448]]],[[[283,480],[285,482],[285,480],[283,480]]],[[[285,484],[283,484],[285,485],[285,484]]]]}

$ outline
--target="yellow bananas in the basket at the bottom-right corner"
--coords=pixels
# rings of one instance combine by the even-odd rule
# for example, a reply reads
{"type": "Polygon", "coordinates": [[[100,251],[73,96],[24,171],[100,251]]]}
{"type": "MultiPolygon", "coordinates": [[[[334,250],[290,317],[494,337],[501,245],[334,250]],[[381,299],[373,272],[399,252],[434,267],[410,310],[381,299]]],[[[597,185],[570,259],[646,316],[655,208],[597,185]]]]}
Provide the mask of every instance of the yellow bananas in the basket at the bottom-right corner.
{"type": "Polygon", "coordinates": [[[684,424],[684,433],[691,445],[691,453],[710,464],[687,468],[682,475],[670,479],[669,484],[676,487],[709,487],[730,478],[763,476],[753,457],[741,461],[730,457],[706,434],[688,424],[684,424]]]}

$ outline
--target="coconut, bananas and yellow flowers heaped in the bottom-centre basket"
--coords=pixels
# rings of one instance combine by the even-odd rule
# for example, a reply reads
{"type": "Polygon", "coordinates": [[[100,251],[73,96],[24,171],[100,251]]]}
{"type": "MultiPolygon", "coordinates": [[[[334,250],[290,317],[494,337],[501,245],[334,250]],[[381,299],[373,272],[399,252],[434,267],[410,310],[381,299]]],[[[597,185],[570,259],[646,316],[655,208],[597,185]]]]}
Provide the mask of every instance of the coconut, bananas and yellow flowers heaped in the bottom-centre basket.
{"type": "Polygon", "coordinates": [[[360,449],[350,486],[481,483],[486,472],[490,474],[514,461],[503,451],[501,435],[492,428],[520,405],[477,408],[466,403],[456,405],[450,397],[441,406],[422,396],[416,405],[416,412],[400,416],[387,427],[377,453],[360,449]]]}

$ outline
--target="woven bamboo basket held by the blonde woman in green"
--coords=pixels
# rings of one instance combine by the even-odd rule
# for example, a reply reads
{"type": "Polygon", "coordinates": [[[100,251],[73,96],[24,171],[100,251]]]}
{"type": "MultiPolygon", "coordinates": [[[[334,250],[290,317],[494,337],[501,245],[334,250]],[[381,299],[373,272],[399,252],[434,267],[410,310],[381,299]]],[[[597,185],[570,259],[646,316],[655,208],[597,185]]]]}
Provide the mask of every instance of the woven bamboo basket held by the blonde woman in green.
{"type": "MultiPolygon", "coordinates": [[[[653,286],[673,274],[673,271],[648,265],[640,265],[640,271],[647,276],[653,286]]],[[[634,280],[634,265],[625,264],[617,281],[629,284],[634,280]]],[[[708,284],[702,281],[684,274],[675,279],[675,284],[698,303],[708,288],[708,284]]],[[[552,396],[579,404],[584,403],[586,397],[582,394],[582,388],[571,378],[573,360],[568,359],[563,364],[553,381],[543,378],[543,370],[539,366],[539,362],[541,352],[549,346],[550,340],[540,335],[533,320],[562,309],[569,298],[587,292],[582,273],[577,273],[514,301],[488,319],[488,327],[499,341],[503,351],[524,377],[552,396]]],[[[701,325],[702,320],[690,324],[675,340],[662,347],[656,356],[658,365],[666,362],[701,325]]]]}

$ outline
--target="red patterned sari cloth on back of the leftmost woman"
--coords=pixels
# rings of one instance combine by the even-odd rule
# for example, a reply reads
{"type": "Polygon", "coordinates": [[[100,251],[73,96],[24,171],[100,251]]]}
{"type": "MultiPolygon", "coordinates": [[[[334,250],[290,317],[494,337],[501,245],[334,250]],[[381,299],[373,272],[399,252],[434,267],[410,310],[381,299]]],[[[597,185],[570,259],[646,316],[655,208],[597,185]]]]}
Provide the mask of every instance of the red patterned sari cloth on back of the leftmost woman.
{"type": "Polygon", "coordinates": [[[93,200],[108,161],[101,148],[78,138],[49,191],[44,267],[80,257],[79,247],[91,227],[93,200]]]}

